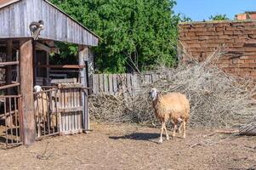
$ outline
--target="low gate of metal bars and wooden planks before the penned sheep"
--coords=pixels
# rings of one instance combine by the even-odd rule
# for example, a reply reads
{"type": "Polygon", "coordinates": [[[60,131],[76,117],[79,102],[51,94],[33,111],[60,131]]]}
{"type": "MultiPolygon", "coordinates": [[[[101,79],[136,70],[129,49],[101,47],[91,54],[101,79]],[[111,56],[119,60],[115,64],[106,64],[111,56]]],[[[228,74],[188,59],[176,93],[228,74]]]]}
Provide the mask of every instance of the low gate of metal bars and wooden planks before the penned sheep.
{"type": "Polygon", "coordinates": [[[37,139],[56,134],[82,133],[88,122],[86,92],[81,84],[60,84],[35,93],[37,139]]]}

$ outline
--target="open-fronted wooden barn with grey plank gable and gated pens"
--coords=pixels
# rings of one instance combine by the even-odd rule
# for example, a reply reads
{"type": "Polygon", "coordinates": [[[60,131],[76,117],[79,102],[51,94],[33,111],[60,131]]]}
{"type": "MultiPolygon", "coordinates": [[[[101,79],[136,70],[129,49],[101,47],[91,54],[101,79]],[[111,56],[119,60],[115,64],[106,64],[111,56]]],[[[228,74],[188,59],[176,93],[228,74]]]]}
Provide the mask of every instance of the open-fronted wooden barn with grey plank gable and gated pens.
{"type": "Polygon", "coordinates": [[[90,48],[99,37],[47,0],[0,0],[0,23],[0,142],[29,145],[89,130],[90,48]],[[59,53],[55,42],[77,44],[77,65],[49,64],[49,54],[59,53]],[[54,69],[79,74],[51,80],[54,69]]]}

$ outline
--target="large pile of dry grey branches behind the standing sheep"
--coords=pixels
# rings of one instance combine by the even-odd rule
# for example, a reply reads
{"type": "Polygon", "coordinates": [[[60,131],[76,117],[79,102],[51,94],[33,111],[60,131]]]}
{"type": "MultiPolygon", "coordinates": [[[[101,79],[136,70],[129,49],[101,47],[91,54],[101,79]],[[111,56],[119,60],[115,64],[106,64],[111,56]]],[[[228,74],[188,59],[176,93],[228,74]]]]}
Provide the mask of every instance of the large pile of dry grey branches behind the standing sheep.
{"type": "Polygon", "coordinates": [[[191,102],[191,127],[230,127],[251,120],[256,112],[253,81],[233,77],[220,71],[213,64],[221,54],[213,53],[204,62],[179,65],[176,69],[161,68],[162,77],[135,88],[137,95],[127,92],[111,96],[91,96],[89,109],[91,118],[100,122],[136,122],[156,125],[151,100],[151,88],[162,94],[180,92],[191,102]]]}

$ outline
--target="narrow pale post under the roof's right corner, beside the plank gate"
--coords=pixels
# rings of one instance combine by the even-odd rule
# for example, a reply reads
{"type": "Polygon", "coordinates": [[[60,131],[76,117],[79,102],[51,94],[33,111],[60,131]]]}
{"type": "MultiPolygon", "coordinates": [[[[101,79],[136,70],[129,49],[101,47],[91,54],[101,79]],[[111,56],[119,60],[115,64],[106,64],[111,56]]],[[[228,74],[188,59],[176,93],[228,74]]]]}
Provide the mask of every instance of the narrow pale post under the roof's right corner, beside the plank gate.
{"type": "MultiPolygon", "coordinates": [[[[88,58],[88,47],[79,45],[78,47],[79,50],[79,65],[82,66],[80,68],[79,72],[79,77],[80,77],[80,82],[82,83],[83,88],[88,88],[88,82],[87,82],[87,76],[88,72],[84,68],[85,62],[84,60],[88,58]]],[[[88,115],[88,100],[87,100],[88,92],[86,90],[85,95],[82,95],[82,127],[85,130],[89,130],[89,115],[88,115]]]]}

